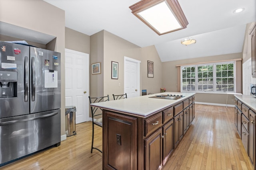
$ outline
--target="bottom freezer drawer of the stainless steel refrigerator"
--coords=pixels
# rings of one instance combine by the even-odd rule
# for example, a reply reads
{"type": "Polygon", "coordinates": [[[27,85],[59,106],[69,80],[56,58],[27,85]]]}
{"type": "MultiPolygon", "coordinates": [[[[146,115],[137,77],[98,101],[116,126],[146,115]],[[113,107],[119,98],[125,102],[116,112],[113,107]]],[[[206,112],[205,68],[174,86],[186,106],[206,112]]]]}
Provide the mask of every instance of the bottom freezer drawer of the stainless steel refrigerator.
{"type": "Polygon", "coordinates": [[[58,143],[60,109],[0,119],[0,164],[58,143]]]}

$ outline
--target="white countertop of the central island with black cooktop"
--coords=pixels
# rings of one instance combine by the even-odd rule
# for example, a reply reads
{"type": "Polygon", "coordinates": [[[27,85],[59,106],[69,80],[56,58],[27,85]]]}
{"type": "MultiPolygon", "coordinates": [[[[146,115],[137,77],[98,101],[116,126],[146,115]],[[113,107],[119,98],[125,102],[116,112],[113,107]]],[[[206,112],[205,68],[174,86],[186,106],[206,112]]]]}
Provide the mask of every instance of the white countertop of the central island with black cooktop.
{"type": "Polygon", "coordinates": [[[182,100],[185,100],[195,93],[181,93],[181,92],[163,92],[158,94],[151,94],[145,96],[138,96],[134,98],[120,99],[120,100],[111,100],[107,102],[100,102],[91,104],[92,106],[100,107],[106,110],[119,111],[122,113],[127,113],[131,115],[137,115],[141,117],[147,117],[148,115],[164,109],[172,104],[178,103],[182,100]],[[179,94],[185,97],[178,100],[168,100],[168,99],[158,99],[158,98],[149,98],[152,96],[160,94],[179,94]]]}

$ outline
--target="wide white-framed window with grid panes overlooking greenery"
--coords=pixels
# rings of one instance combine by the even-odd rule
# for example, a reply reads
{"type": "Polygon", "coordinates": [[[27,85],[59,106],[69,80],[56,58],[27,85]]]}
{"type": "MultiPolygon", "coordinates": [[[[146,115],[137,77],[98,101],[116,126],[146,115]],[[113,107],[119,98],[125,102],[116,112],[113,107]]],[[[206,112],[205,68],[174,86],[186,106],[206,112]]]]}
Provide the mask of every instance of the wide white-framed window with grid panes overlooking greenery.
{"type": "Polygon", "coordinates": [[[235,62],[181,66],[182,92],[235,92],[235,62]]]}

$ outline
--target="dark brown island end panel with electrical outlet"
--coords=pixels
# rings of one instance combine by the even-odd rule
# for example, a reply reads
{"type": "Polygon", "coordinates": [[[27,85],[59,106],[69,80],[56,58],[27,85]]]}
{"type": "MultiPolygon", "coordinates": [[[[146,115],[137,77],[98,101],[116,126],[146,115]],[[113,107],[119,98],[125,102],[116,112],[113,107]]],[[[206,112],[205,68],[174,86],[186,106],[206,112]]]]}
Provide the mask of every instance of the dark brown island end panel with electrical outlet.
{"type": "Polygon", "coordinates": [[[137,169],[137,119],[108,111],[103,115],[103,139],[108,141],[103,143],[103,169],[137,169]]]}

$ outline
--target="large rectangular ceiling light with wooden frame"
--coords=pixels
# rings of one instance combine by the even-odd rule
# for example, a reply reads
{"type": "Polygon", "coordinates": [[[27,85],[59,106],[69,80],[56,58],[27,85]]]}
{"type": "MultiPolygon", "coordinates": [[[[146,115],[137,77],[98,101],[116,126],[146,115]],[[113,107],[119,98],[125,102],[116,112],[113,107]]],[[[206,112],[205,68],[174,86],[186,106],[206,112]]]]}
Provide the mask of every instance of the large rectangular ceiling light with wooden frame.
{"type": "Polygon", "coordinates": [[[178,0],[141,0],[129,8],[158,35],[178,31],[188,25],[178,0]]]}

